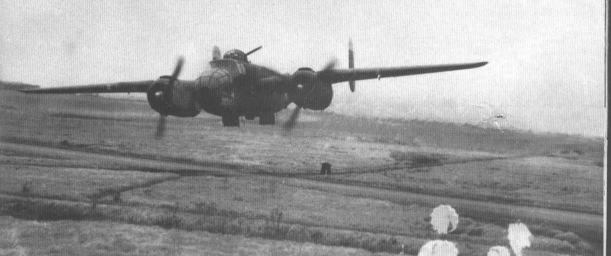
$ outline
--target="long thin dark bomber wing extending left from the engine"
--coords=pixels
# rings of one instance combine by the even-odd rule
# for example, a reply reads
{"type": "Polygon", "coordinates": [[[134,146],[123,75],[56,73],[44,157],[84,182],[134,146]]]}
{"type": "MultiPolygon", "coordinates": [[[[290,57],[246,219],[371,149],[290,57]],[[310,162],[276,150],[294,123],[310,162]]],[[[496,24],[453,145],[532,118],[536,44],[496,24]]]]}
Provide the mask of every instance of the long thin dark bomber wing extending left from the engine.
{"type": "Polygon", "coordinates": [[[23,93],[145,93],[152,80],[19,90],[23,93]]]}

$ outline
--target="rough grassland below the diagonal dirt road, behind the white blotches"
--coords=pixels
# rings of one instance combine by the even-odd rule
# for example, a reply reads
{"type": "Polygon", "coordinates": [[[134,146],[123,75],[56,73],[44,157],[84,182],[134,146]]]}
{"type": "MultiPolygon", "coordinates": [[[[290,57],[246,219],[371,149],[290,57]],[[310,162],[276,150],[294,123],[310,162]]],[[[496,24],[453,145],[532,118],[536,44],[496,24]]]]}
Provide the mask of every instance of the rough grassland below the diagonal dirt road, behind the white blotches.
{"type": "MultiPolygon", "coordinates": [[[[180,194],[175,194],[179,191],[175,188],[158,184],[124,193],[119,203],[100,202],[97,208],[92,208],[88,202],[2,196],[0,201],[4,206],[1,210],[16,217],[51,221],[49,223],[59,219],[110,221],[191,232],[282,238],[299,243],[356,247],[370,252],[397,253],[400,244],[406,244],[409,254],[417,254],[426,241],[439,238],[431,232],[427,222],[431,208],[418,204],[403,206],[367,197],[355,199],[335,193],[284,188],[281,182],[274,185],[232,178],[225,181],[224,177],[183,179],[186,180],[180,181],[182,185],[169,183],[183,188],[180,194]],[[208,182],[200,185],[203,180],[208,182]],[[245,183],[252,186],[241,186],[245,183]],[[202,189],[204,186],[216,193],[202,189]],[[219,188],[222,186],[225,188],[219,188]],[[250,193],[252,188],[262,195],[250,193]],[[197,191],[201,194],[187,196],[197,191]],[[246,197],[247,194],[251,197],[246,197]],[[282,199],[277,200],[279,197],[282,199]]],[[[591,251],[587,241],[571,232],[541,225],[533,225],[531,229],[536,235],[529,249],[533,253],[575,255],[591,251]]],[[[461,218],[459,228],[444,239],[455,241],[464,255],[485,255],[489,246],[507,245],[506,236],[507,230],[502,226],[461,218]]]]}

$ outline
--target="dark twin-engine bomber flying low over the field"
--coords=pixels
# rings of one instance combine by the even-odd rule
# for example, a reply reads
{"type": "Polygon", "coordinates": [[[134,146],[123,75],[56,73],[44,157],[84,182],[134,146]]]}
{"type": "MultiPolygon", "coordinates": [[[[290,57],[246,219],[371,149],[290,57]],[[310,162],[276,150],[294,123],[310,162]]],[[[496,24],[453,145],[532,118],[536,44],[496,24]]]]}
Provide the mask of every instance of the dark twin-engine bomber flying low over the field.
{"type": "Polygon", "coordinates": [[[276,124],[275,113],[287,108],[291,102],[297,107],[284,125],[290,131],[301,108],[324,110],[333,98],[332,84],[349,82],[351,91],[356,80],[382,77],[409,76],[458,69],[477,68],[488,62],[400,66],[392,68],[354,68],[352,42],[349,41],[348,68],[335,68],[331,60],[320,71],[299,68],[293,74],[281,74],[265,66],[255,65],[247,56],[249,52],[233,49],[221,57],[214,46],[210,68],[195,80],[178,80],[184,59],[180,57],[170,76],[140,82],[81,85],[20,90],[24,93],[147,93],[150,106],[159,112],[156,137],[163,136],[164,116],[197,116],[202,109],[222,116],[224,126],[240,126],[240,116],[252,120],[258,116],[259,124],[276,124]]]}

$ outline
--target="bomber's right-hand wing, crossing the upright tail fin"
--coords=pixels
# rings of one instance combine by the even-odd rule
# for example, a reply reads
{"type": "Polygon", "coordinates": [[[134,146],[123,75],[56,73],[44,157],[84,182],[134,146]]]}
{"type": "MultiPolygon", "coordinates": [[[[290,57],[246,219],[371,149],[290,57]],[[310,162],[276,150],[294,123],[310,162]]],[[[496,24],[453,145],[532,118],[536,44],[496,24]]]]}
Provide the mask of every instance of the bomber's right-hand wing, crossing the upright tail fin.
{"type": "Polygon", "coordinates": [[[459,69],[477,68],[488,62],[430,65],[430,66],[400,66],[392,68],[348,68],[328,69],[320,71],[327,81],[332,83],[347,82],[351,80],[365,80],[394,76],[411,76],[415,74],[437,73],[459,69]]]}

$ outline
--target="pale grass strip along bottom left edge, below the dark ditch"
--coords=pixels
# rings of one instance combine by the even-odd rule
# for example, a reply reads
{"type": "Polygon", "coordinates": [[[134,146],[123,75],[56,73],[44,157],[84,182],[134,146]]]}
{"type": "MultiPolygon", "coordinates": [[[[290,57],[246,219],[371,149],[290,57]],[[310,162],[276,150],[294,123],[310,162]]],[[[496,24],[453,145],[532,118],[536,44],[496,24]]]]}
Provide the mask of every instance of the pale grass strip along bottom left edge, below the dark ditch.
{"type": "Polygon", "coordinates": [[[362,249],[115,222],[0,216],[0,229],[2,255],[370,255],[362,249]]]}

